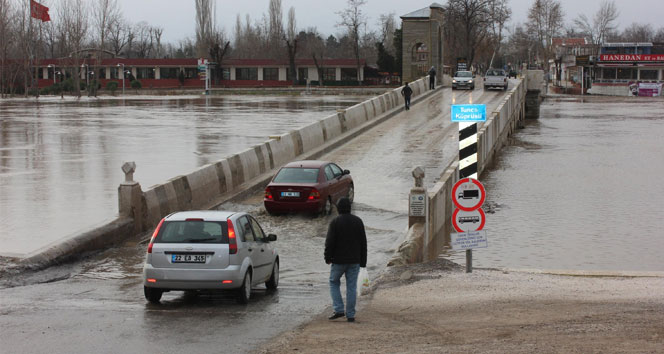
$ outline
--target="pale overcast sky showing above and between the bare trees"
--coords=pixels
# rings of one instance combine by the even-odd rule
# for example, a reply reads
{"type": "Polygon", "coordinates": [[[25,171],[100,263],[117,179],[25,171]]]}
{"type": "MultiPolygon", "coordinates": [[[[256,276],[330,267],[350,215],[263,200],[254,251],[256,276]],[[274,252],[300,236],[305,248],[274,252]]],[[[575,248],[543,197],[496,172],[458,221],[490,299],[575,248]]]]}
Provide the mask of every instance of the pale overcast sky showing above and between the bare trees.
{"type": "MultiPolygon", "coordinates": [[[[512,8],[512,23],[526,21],[528,8],[534,0],[509,0],[512,8]]],[[[397,16],[429,6],[433,1],[422,0],[368,0],[363,7],[369,17],[370,28],[377,28],[381,14],[395,13],[397,16]]],[[[447,0],[436,1],[445,5],[447,0]]],[[[601,0],[560,0],[567,22],[586,14],[592,18],[601,0]]],[[[151,25],[164,28],[163,40],[177,42],[194,34],[194,0],[118,0],[122,11],[133,23],[146,21],[151,25]]],[[[616,0],[622,29],[633,22],[650,23],[655,29],[664,27],[664,1],[662,0],[616,0]]],[[[240,14],[244,21],[249,14],[253,20],[262,18],[267,13],[269,0],[217,0],[217,19],[226,32],[233,33],[235,18],[240,14]]],[[[317,27],[318,31],[328,36],[336,34],[339,21],[336,12],[346,7],[346,0],[282,0],[284,23],[290,7],[295,8],[298,29],[317,27]]]]}

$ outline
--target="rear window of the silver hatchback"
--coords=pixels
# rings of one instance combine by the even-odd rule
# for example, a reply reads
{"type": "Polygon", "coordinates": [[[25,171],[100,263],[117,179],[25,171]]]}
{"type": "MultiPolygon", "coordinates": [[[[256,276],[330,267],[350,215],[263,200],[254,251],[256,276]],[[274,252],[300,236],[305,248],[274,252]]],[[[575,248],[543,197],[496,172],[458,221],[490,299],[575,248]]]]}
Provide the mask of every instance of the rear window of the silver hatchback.
{"type": "Polygon", "coordinates": [[[228,243],[228,227],[225,221],[165,221],[155,242],[228,243]]]}

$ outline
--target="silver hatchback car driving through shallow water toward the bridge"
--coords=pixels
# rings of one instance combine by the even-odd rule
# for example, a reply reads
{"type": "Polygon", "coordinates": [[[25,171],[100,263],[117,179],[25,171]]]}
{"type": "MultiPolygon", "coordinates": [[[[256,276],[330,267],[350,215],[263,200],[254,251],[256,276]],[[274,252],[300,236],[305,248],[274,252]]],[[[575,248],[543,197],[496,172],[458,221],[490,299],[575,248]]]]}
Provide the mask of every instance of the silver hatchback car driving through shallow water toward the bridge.
{"type": "Polygon", "coordinates": [[[158,303],[171,290],[237,292],[247,303],[254,285],[279,285],[279,255],[251,215],[228,211],[183,211],[163,218],[148,245],[143,266],[145,298],[158,303]]]}

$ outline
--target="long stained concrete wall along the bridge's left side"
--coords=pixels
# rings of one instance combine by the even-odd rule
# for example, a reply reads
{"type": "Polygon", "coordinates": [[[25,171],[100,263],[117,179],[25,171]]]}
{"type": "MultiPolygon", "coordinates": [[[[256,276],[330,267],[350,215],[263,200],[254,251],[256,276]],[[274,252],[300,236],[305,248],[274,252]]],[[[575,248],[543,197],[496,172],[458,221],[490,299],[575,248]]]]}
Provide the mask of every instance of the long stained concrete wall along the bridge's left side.
{"type": "MultiPolygon", "coordinates": [[[[413,96],[427,92],[427,83],[428,78],[412,82],[413,96]]],[[[143,229],[155,226],[161,218],[178,210],[211,207],[223,195],[246,187],[248,181],[402,106],[400,87],[185,176],[152,186],[143,192],[147,214],[143,229]]]]}

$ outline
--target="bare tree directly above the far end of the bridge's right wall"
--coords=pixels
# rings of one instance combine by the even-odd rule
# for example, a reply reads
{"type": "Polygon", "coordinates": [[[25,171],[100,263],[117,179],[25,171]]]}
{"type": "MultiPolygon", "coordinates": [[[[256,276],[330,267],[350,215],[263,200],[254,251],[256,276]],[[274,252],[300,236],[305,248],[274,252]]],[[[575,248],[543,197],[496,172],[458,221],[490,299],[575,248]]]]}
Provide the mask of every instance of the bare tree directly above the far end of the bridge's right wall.
{"type": "Polygon", "coordinates": [[[535,0],[528,10],[527,28],[537,39],[534,48],[541,60],[552,56],[552,39],[563,29],[564,14],[559,0],[535,0]]]}

